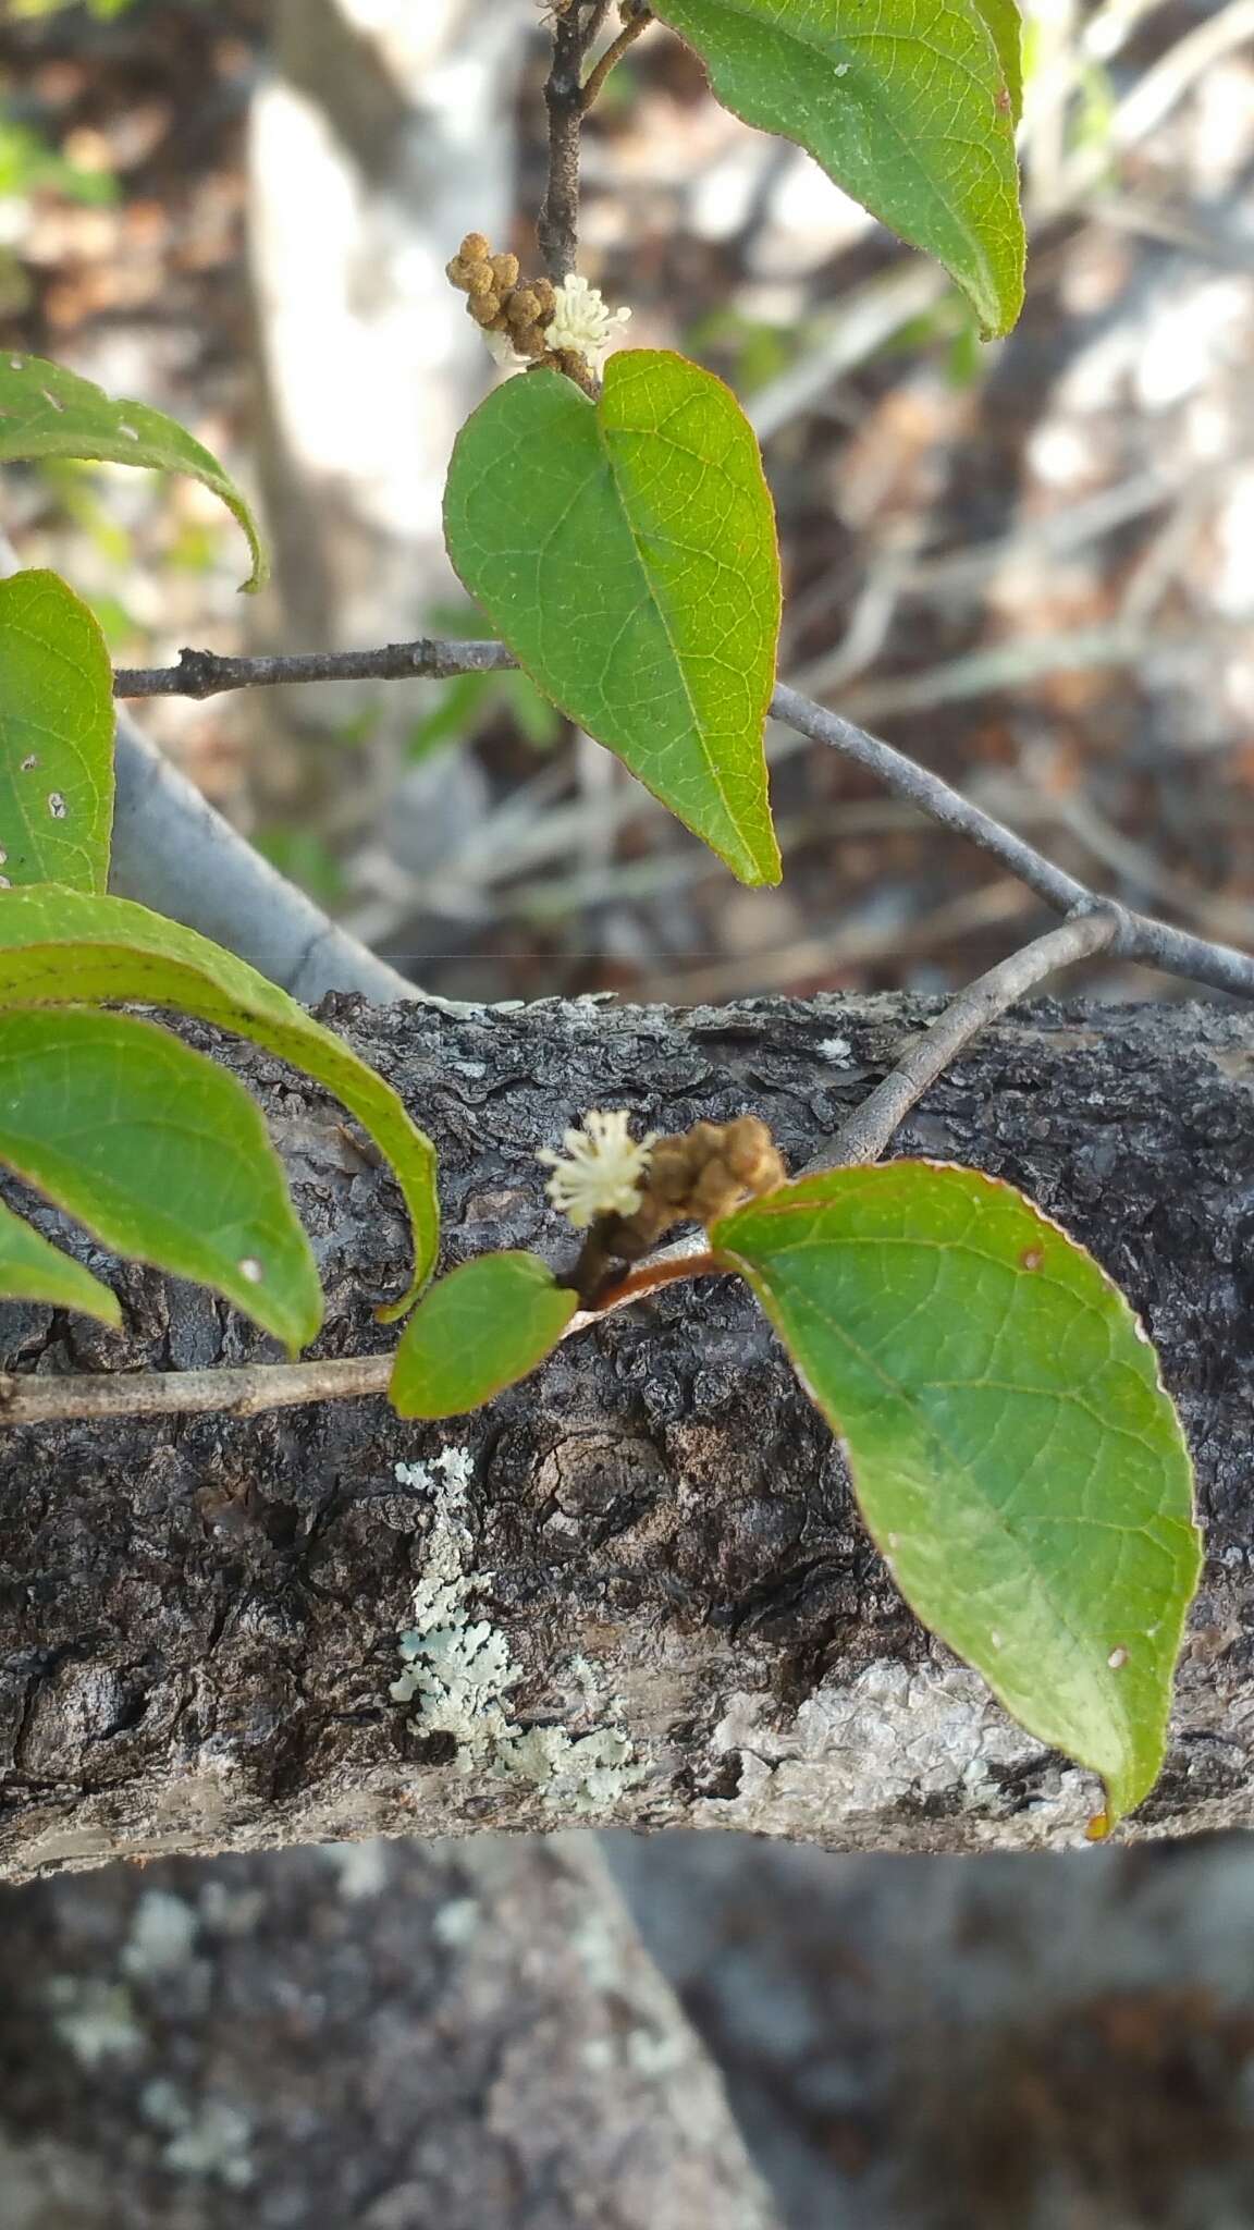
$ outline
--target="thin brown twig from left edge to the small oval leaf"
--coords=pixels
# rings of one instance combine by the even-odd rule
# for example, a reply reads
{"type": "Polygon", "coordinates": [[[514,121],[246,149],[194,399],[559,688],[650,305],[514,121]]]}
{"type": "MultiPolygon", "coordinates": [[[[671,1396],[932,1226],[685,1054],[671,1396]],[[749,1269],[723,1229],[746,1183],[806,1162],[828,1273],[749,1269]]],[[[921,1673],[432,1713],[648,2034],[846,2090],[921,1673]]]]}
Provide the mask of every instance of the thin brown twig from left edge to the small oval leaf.
{"type": "Polygon", "coordinates": [[[116,1376],[0,1376],[0,1425],[51,1425],[65,1418],[261,1416],[308,1400],[361,1400],[386,1394],[393,1356],[341,1356],[330,1363],[245,1363],[221,1371],[118,1371],[116,1376]]]}

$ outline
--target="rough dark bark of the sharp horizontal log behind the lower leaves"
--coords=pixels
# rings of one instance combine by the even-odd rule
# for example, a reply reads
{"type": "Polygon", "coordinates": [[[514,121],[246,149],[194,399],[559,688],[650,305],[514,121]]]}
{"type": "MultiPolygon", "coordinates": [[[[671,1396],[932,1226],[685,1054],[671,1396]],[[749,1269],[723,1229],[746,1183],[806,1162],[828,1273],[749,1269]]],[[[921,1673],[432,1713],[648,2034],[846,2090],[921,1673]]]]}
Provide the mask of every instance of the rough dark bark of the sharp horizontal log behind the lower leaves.
{"type": "MultiPolygon", "coordinates": [[[[797,1164],[930,1006],[326,1012],[435,1133],[457,1262],[567,1253],[533,1148],[582,1108],[627,1104],[656,1128],[756,1108],[797,1164]]],[[[384,1345],[370,1305],[404,1258],[390,1180],[308,1084],[228,1057],[270,1108],[315,1233],[326,1351],[384,1345]]],[[[1075,1231],[1180,1400],[1209,1574],[1142,1833],[1254,1820],[1252,1061],[1245,1015],[1042,1006],[991,1030],[899,1140],[1011,1177],[1075,1231]]],[[[190,1367],[261,1345],[199,1291],[112,1276],[125,1336],[9,1307],[9,1367],[190,1367]]],[[[370,1400],[11,1432],[0,1505],[16,1878],[571,1820],[1015,1849],[1073,1842],[1096,1802],[901,1606],[832,1436],[734,1280],[607,1320],[451,1429],[370,1400]],[[388,1695],[415,1623],[448,1688],[422,1713],[388,1695]]]]}

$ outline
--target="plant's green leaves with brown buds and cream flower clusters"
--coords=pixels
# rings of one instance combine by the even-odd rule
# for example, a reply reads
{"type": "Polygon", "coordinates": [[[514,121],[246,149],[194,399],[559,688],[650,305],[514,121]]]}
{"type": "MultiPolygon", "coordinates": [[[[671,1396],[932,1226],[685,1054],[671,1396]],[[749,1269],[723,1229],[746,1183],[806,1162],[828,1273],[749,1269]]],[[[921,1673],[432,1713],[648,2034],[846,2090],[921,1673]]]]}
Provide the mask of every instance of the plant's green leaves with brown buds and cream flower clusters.
{"type": "MultiPolygon", "coordinates": [[[[448,555],[540,691],[743,883],[781,874],[765,763],[781,578],[759,444],[732,390],[625,346],[576,268],[578,125],[649,25],[714,96],[806,147],[933,256],[984,337],[1020,312],[1020,18],[1013,0],[556,0],[544,270],[482,234],[448,279],[509,372],[453,448],[448,555]],[[605,45],[598,49],[598,36],[605,45]],[[611,352],[614,350],[614,352],[611,352]]],[[[0,357],[0,462],[192,473],[250,508],[158,410],[0,357]]],[[[257,970],[107,894],[112,673],[49,571],[0,584],[0,1162],[118,1253],[199,1278],[299,1354],[321,1291],[245,1090],[127,1004],[203,1017],[303,1068],[390,1162],[413,1262],[390,1380],[406,1418],[491,1400],[578,1311],[663,1280],[743,1278],[839,1434],[866,1525],[917,1617],[1044,1744],[1098,1773],[1109,1829],[1151,1788],[1198,1579],[1183,1432],[1105,1271],[1011,1184],[924,1160],[790,1175],[765,1124],[634,1137],[587,1111],[538,1140],[578,1260],[484,1253],[433,1278],[428,1137],[328,1028],[257,970]],[[107,1111],[107,1119],[100,1119],[107,1111]],[[194,1111],[194,1122],[187,1113],[194,1111]],[[656,1258],[676,1231],[703,1249],[656,1258]]],[[[540,1171],[538,1171],[538,1182],[540,1171]]],[[[114,1293],[0,1211],[0,1291],[118,1322],[114,1293]]],[[[698,1322],[698,1287],[692,1289],[698,1322]]]]}

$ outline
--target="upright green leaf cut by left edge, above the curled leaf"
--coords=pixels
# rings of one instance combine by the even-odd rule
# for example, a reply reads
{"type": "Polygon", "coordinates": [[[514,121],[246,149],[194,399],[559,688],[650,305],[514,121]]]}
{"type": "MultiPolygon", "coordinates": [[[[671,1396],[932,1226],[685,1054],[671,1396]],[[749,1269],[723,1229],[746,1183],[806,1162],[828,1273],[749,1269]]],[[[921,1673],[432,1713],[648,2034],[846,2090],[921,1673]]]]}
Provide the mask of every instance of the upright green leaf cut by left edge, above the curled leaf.
{"type": "Polygon", "coordinates": [[[56,573],[0,580],[0,867],[4,883],[105,890],[114,834],[114,676],[105,638],[56,573]]]}

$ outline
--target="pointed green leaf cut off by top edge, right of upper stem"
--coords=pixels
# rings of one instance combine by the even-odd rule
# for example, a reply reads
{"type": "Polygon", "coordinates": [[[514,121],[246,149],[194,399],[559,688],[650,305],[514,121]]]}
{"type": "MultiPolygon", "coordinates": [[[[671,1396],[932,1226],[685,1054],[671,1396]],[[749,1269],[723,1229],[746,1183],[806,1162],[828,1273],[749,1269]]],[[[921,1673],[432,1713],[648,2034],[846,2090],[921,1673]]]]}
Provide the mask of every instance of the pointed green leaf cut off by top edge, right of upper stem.
{"type": "Polygon", "coordinates": [[[797,140],[966,290],[986,332],[1024,299],[1009,0],[658,0],[734,116],[797,140]]]}

